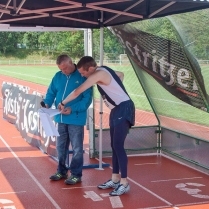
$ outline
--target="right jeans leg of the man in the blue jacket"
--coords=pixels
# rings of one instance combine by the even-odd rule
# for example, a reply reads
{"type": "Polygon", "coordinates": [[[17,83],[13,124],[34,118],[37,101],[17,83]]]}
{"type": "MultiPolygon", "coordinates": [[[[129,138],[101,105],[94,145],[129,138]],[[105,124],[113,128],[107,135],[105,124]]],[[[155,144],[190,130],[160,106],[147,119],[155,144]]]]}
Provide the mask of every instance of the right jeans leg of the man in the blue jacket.
{"type": "Polygon", "coordinates": [[[73,151],[70,171],[73,176],[80,178],[83,169],[84,126],[68,125],[68,132],[73,151]]]}

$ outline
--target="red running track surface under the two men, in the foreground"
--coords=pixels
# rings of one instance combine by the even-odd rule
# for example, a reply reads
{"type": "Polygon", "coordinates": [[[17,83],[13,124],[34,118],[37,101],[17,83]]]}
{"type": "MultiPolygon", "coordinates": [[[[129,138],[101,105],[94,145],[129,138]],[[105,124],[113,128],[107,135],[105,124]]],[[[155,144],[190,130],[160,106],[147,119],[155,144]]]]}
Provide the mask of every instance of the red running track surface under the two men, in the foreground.
{"type": "MultiPolygon", "coordinates": [[[[21,138],[15,126],[2,118],[2,111],[0,124],[1,209],[209,208],[209,176],[160,155],[129,156],[131,191],[120,197],[97,189],[109,179],[111,167],[84,169],[82,182],[74,186],[52,182],[49,176],[57,162],[21,138]]],[[[98,163],[86,153],[84,158],[85,164],[98,163]]],[[[111,164],[110,158],[103,161],[111,164]]]]}

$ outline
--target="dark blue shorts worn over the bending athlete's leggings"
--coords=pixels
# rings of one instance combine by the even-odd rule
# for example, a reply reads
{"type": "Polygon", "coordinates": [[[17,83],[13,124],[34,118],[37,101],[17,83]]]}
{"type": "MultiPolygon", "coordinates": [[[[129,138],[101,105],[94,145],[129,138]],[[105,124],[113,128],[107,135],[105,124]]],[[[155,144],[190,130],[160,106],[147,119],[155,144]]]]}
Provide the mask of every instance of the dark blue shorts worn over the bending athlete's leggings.
{"type": "Polygon", "coordinates": [[[135,124],[135,106],[132,100],[121,102],[111,110],[109,126],[114,127],[123,120],[130,123],[130,128],[135,124]]]}

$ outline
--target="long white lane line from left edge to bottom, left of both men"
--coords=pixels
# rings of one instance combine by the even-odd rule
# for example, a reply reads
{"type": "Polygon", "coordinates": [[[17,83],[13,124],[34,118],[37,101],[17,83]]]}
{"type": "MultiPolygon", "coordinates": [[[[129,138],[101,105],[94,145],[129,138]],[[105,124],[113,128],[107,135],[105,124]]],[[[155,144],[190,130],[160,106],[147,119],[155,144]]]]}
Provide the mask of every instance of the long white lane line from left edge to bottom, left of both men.
{"type": "Polygon", "coordinates": [[[33,181],[36,183],[36,185],[40,188],[40,190],[46,195],[46,197],[49,199],[49,201],[54,205],[56,209],[61,209],[60,206],[54,201],[54,199],[50,196],[50,194],[44,189],[44,187],[39,183],[39,181],[35,178],[35,176],[30,172],[30,170],[25,166],[25,164],[18,158],[18,156],[13,152],[13,150],[10,148],[10,146],[7,144],[7,142],[2,138],[0,135],[1,141],[5,144],[5,146],[9,149],[9,151],[12,153],[12,155],[17,159],[17,161],[20,163],[20,165],[23,167],[23,169],[28,173],[28,175],[33,179],[33,181]]]}

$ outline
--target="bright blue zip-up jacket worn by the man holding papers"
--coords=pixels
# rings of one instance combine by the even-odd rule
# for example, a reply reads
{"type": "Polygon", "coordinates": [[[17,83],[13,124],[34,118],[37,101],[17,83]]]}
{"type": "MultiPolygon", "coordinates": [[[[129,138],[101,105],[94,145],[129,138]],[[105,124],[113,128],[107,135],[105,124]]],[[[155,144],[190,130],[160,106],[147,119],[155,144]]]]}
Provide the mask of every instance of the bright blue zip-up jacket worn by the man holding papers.
{"type": "MultiPolygon", "coordinates": [[[[44,99],[45,104],[49,107],[55,104],[57,108],[58,104],[65,99],[68,94],[78,88],[85,80],[86,78],[81,76],[77,68],[69,76],[63,74],[62,71],[57,72],[48,87],[44,99]]],[[[70,107],[72,110],[69,115],[58,114],[54,116],[54,121],[71,125],[85,125],[87,109],[91,104],[91,101],[92,88],[89,88],[76,99],[65,105],[65,107],[70,107]]]]}

